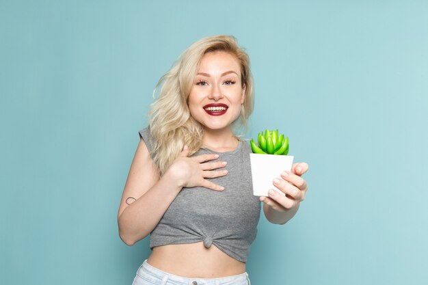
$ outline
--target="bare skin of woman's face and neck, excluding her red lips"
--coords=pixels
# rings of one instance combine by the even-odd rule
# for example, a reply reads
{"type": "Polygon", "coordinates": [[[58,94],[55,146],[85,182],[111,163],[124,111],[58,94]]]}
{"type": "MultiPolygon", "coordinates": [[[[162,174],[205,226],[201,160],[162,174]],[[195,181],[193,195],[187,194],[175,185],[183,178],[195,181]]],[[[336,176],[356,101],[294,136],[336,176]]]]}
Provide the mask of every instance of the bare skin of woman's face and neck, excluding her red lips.
{"type": "Polygon", "coordinates": [[[244,98],[237,59],[222,51],[204,55],[187,100],[191,116],[204,126],[204,146],[219,152],[238,146],[231,124],[239,117],[244,98]],[[203,109],[209,103],[224,103],[228,110],[222,116],[210,116],[203,109]]]}

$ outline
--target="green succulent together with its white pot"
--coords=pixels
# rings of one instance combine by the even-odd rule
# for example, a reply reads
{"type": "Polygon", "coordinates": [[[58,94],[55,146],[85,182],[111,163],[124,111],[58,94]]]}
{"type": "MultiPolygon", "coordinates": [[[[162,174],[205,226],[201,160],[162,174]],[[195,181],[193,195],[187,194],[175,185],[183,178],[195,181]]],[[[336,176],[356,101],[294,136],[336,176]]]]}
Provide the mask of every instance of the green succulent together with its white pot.
{"type": "MultiPolygon", "coordinates": [[[[273,179],[280,177],[284,170],[291,171],[293,156],[289,154],[289,137],[278,135],[276,131],[266,130],[258,133],[258,144],[250,140],[253,153],[250,154],[253,193],[255,196],[266,196],[269,189],[282,193],[273,186],[273,179]]],[[[282,193],[284,195],[284,193],[282,193]]]]}

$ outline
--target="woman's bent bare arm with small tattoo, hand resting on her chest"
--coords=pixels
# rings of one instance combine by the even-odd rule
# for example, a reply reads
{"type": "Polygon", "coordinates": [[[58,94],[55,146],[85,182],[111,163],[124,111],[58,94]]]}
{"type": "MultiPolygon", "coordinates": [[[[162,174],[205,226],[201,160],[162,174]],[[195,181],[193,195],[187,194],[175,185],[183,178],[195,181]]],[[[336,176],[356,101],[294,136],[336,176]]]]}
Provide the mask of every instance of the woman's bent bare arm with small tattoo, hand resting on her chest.
{"type": "Polygon", "coordinates": [[[202,186],[222,190],[219,185],[205,179],[226,175],[223,171],[211,171],[224,167],[222,161],[206,162],[217,159],[217,154],[187,157],[188,154],[189,150],[185,147],[165,174],[160,176],[144,140],[140,139],[118,212],[119,236],[126,245],[144,239],[155,229],[183,187],[202,186]],[[126,203],[127,199],[129,204],[126,203]]]}

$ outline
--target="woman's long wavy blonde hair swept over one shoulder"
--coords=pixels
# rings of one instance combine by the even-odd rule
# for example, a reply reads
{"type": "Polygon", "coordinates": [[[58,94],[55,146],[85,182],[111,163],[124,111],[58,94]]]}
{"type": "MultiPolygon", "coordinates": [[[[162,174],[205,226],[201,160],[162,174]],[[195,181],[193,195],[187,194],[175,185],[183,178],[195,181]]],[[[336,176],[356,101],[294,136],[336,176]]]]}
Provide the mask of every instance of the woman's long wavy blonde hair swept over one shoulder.
{"type": "Polygon", "coordinates": [[[245,85],[245,98],[241,105],[239,118],[233,122],[234,128],[241,128],[244,135],[248,131],[248,118],[254,107],[254,83],[250,70],[250,58],[238,46],[233,36],[211,36],[202,38],[185,50],[172,68],[157,83],[153,96],[159,86],[159,97],[150,105],[148,120],[150,126],[150,154],[161,174],[178,157],[183,146],[189,146],[189,155],[202,146],[203,128],[194,120],[187,105],[193,80],[199,64],[206,53],[225,51],[234,55],[241,66],[241,83],[245,85]]]}

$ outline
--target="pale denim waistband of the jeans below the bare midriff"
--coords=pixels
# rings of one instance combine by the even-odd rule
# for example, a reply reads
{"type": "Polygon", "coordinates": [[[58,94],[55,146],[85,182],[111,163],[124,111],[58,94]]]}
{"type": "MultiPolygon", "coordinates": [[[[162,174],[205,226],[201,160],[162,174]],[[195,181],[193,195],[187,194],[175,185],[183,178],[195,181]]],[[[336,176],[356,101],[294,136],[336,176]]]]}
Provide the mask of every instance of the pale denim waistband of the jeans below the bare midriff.
{"type": "Polygon", "coordinates": [[[159,283],[159,284],[166,284],[168,280],[173,281],[177,284],[183,284],[183,285],[250,284],[250,280],[248,279],[247,272],[244,272],[238,275],[230,275],[230,276],[218,277],[218,278],[183,277],[183,276],[170,274],[165,271],[161,271],[156,267],[152,267],[152,265],[147,263],[147,260],[144,260],[143,264],[139,267],[137,273],[141,277],[144,277],[149,281],[152,281],[154,283],[159,283]]]}

